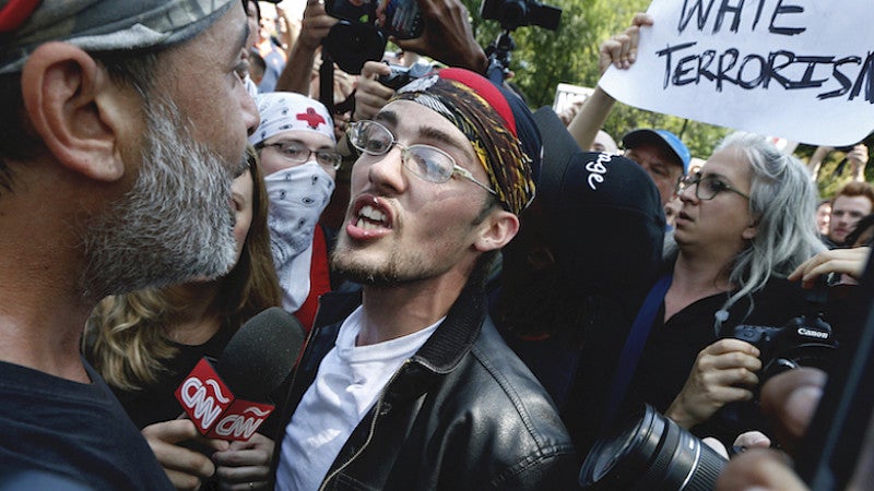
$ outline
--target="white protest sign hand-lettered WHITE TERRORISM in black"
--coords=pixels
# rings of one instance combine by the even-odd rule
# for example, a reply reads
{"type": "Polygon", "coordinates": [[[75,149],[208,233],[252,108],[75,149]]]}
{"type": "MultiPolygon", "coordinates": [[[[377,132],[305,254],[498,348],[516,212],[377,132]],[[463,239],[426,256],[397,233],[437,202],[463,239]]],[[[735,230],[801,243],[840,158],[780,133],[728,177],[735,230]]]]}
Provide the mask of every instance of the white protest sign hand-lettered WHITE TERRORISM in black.
{"type": "Polygon", "coordinates": [[[653,0],[637,62],[600,85],[625,104],[841,146],[874,130],[871,0],[653,0]]]}

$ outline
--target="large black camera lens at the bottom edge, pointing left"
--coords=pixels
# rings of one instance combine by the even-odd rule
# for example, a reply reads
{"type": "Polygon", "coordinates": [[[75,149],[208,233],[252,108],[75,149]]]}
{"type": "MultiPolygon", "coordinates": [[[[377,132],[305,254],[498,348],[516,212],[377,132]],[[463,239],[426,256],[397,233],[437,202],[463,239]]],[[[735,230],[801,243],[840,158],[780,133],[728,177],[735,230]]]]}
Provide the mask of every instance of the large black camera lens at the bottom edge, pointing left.
{"type": "Polygon", "coordinates": [[[589,490],[710,491],[728,460],[651,406],[599,440],[580,469],[589,490]]]}

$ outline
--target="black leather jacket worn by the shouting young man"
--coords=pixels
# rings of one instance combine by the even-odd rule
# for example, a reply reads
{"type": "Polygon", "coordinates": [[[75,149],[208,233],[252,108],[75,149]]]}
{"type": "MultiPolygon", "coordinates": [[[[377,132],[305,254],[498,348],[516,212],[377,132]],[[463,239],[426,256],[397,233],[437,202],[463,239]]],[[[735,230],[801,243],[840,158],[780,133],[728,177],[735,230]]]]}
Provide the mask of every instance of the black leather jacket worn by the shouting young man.
{"type": "MultiPolygon", "coordinates": [[[[358,295],[327,294],[282,421],[312,383],[358,295]],[[339,302],[339,306],[338,306],[339,302]],[[327,316],[333,324],[320,327],[327,316]]],[[[276,441],[275,457],[282,448],[276,441]]],[[[279,458],[274,458],[274,470],[279,458]]],[[[578,459],[536,379],[464,291],[447,319],[394,373],[352,432],[321,489],[566,490],[578,459]]]]}

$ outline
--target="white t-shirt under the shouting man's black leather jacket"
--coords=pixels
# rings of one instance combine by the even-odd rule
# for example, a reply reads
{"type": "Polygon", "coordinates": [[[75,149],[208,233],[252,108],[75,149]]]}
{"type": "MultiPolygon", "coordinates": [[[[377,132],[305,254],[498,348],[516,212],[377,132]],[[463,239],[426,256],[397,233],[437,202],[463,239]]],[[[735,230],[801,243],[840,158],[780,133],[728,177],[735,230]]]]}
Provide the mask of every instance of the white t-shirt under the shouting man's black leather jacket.
{"type": "Polygon", "coordinates": [[[358,307],[343,321],[333,349],[321,360],[316,380],[285,428],[276,490],[319,489],[340,450],[394,372],[442,322],[385,343],[355,346],[362,315],[358,307]]]}

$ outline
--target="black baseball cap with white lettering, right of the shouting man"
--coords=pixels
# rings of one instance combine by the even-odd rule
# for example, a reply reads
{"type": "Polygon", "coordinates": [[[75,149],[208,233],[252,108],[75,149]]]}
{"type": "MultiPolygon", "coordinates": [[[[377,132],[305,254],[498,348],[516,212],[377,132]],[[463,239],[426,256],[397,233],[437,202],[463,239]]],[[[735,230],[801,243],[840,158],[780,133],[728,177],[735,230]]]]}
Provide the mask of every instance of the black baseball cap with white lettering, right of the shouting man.
{"type": "Polygon", "coordinates": [[[538,197],[563,274],[623,291],[654,279],[664,241],[659,190],[642,167],[583,152],[551,107],[534,112],[543,136],[538,197]]]}

